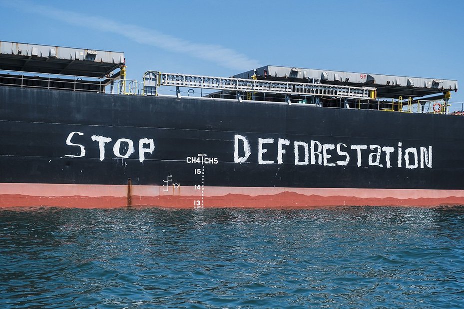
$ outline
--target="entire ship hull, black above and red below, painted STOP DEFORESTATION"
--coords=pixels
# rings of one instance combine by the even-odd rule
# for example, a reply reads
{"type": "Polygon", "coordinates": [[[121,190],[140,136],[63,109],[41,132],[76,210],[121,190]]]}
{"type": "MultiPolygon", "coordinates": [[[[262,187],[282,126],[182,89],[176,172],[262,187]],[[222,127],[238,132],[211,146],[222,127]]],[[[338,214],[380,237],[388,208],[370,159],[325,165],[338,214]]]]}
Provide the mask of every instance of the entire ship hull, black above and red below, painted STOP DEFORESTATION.
{"type": "Polygon", "coordinates": [[[0,206],[464,204],[464,121],[0,87],[0,206]]]}

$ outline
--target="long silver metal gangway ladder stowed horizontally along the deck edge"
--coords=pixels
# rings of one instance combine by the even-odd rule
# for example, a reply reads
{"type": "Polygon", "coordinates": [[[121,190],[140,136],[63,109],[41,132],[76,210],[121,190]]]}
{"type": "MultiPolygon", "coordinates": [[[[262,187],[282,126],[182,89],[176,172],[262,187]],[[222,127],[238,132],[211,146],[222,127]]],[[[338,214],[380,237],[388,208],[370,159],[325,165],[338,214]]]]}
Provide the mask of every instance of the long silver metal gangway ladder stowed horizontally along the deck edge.
{"type": "Polygon", "coordinates": [[[146,95],[157,95],[157,87],[204,88],[286,95],[331,96],[342,98],[375,99],[376,88],[328,85],[319,83],[297,83],[270,80],[214,77],[178,73],[147,71],[143,75],[143,90],[146,95]]]}

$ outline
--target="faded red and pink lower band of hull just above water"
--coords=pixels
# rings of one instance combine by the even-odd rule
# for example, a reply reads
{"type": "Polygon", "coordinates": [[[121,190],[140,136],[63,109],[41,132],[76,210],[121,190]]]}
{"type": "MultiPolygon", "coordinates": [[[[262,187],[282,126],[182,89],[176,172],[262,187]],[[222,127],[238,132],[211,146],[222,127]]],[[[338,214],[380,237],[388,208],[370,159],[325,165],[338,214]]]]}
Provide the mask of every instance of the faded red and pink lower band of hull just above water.
{"type": "Polygon", "coordinates": [[[464,205],[464,190],[0,184],[0,207],[310,208],[464,205]],[[167,190],[167,191],[165,191],[167,190]]]}

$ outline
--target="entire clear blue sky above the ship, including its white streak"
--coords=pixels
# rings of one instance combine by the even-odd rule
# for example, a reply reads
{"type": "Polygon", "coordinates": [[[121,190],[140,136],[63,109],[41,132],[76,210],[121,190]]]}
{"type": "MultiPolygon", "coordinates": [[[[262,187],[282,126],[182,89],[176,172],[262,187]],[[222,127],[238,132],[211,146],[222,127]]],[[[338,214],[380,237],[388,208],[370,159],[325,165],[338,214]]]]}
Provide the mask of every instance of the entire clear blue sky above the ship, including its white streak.
{"type": "Polygon", "coordinates": [[[147,70],[230,76],[269,64],[464,87],[463,13],[457,0],[0,0],[0,40],[123,51],[139,80],[147,70]]]}

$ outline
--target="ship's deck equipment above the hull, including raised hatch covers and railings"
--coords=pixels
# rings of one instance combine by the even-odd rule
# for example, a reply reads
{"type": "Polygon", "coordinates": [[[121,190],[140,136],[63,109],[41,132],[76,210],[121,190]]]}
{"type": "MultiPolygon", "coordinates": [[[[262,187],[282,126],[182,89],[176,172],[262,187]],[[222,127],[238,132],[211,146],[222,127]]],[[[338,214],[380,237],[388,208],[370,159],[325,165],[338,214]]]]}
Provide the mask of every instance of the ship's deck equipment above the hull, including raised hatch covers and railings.
{"type": "Polygon", "coordinates": [[[124,61],[122,52],[0,41],[0,86],[464,114],[451,79],[267,65],[232,77],[147,71],[139,82],[126,79],[124,61]]]}

